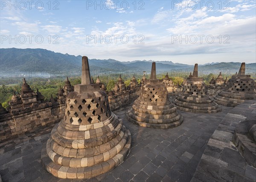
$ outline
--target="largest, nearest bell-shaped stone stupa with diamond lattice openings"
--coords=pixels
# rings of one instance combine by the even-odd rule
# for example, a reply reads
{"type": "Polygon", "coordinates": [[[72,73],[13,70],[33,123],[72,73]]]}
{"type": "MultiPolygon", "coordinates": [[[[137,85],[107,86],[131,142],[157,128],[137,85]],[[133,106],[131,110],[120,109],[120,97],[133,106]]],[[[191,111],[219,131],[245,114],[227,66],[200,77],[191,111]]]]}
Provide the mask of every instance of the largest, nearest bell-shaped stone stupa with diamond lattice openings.
{"type": "Polygon", "coordinates": [[[131,148],[131,134],[110,111],[108,96],[93,84],[82,57],[81,84],[66,99],[64,119],[52,129],[41,159],[53,176],[88,179],[121,164],[131,148]]]}

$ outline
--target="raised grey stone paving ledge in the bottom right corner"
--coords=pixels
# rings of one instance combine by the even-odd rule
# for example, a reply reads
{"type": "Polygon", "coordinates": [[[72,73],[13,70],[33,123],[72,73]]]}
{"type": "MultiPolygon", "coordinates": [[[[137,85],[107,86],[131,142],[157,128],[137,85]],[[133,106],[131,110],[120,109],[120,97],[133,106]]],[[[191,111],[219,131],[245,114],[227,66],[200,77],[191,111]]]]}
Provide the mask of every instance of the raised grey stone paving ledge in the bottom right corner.
{"type": "MultiPolygon", "coordinates": [[[[245,119],[255,121],[256,101],[248,100],[233,108],[218,125],[207,143],[192,182],[234,181],[255,182],[256,169],[253,168],[233,144],[236,125],[245,119]]],[[[255,150],[255,149],[254,149],[255,150]]],[[[253,160],[253,159],[251,159],[253,160]]]]}

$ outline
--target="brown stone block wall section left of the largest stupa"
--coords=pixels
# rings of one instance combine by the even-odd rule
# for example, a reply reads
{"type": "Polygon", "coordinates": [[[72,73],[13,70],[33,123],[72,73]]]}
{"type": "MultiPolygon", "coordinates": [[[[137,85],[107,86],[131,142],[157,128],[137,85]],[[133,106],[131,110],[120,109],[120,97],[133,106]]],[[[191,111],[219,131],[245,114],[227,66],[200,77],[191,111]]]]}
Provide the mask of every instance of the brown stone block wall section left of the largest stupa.
{"type": "Polygon", "coordinates": [[[0,143],[60,122],[64,117],[65,105],[58,102],[40,103],[33,110],[12,115],[0,116],[0,143]]]}

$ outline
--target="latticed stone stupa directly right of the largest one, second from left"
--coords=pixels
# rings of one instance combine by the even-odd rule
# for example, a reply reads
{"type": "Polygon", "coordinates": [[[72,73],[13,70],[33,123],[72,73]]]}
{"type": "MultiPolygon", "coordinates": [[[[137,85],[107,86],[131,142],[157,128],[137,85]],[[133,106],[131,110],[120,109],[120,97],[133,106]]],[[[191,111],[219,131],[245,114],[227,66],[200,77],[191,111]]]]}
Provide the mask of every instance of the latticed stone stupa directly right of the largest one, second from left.
{"type": "Polygon", "coordinates": [[[162,80],[156,76],[156,63],[152,63],[149,80],[141,86],[140,96],[126,114],[134,124],[149,128],[174,128],[183,122],[183,117],[176,111],[167,97],[167,90],[162,80]]]}

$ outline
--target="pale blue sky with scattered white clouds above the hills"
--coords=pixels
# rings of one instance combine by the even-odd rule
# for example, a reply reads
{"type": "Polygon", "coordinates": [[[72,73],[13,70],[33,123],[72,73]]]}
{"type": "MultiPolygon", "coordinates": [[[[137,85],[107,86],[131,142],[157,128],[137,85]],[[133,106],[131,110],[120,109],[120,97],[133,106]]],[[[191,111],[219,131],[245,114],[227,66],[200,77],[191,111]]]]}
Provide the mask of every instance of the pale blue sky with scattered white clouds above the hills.
{"type": "Polygon", "coordinates": [[[1,0],[0,37],[89,59],[255,63],[256,1],[1,0]]]}

